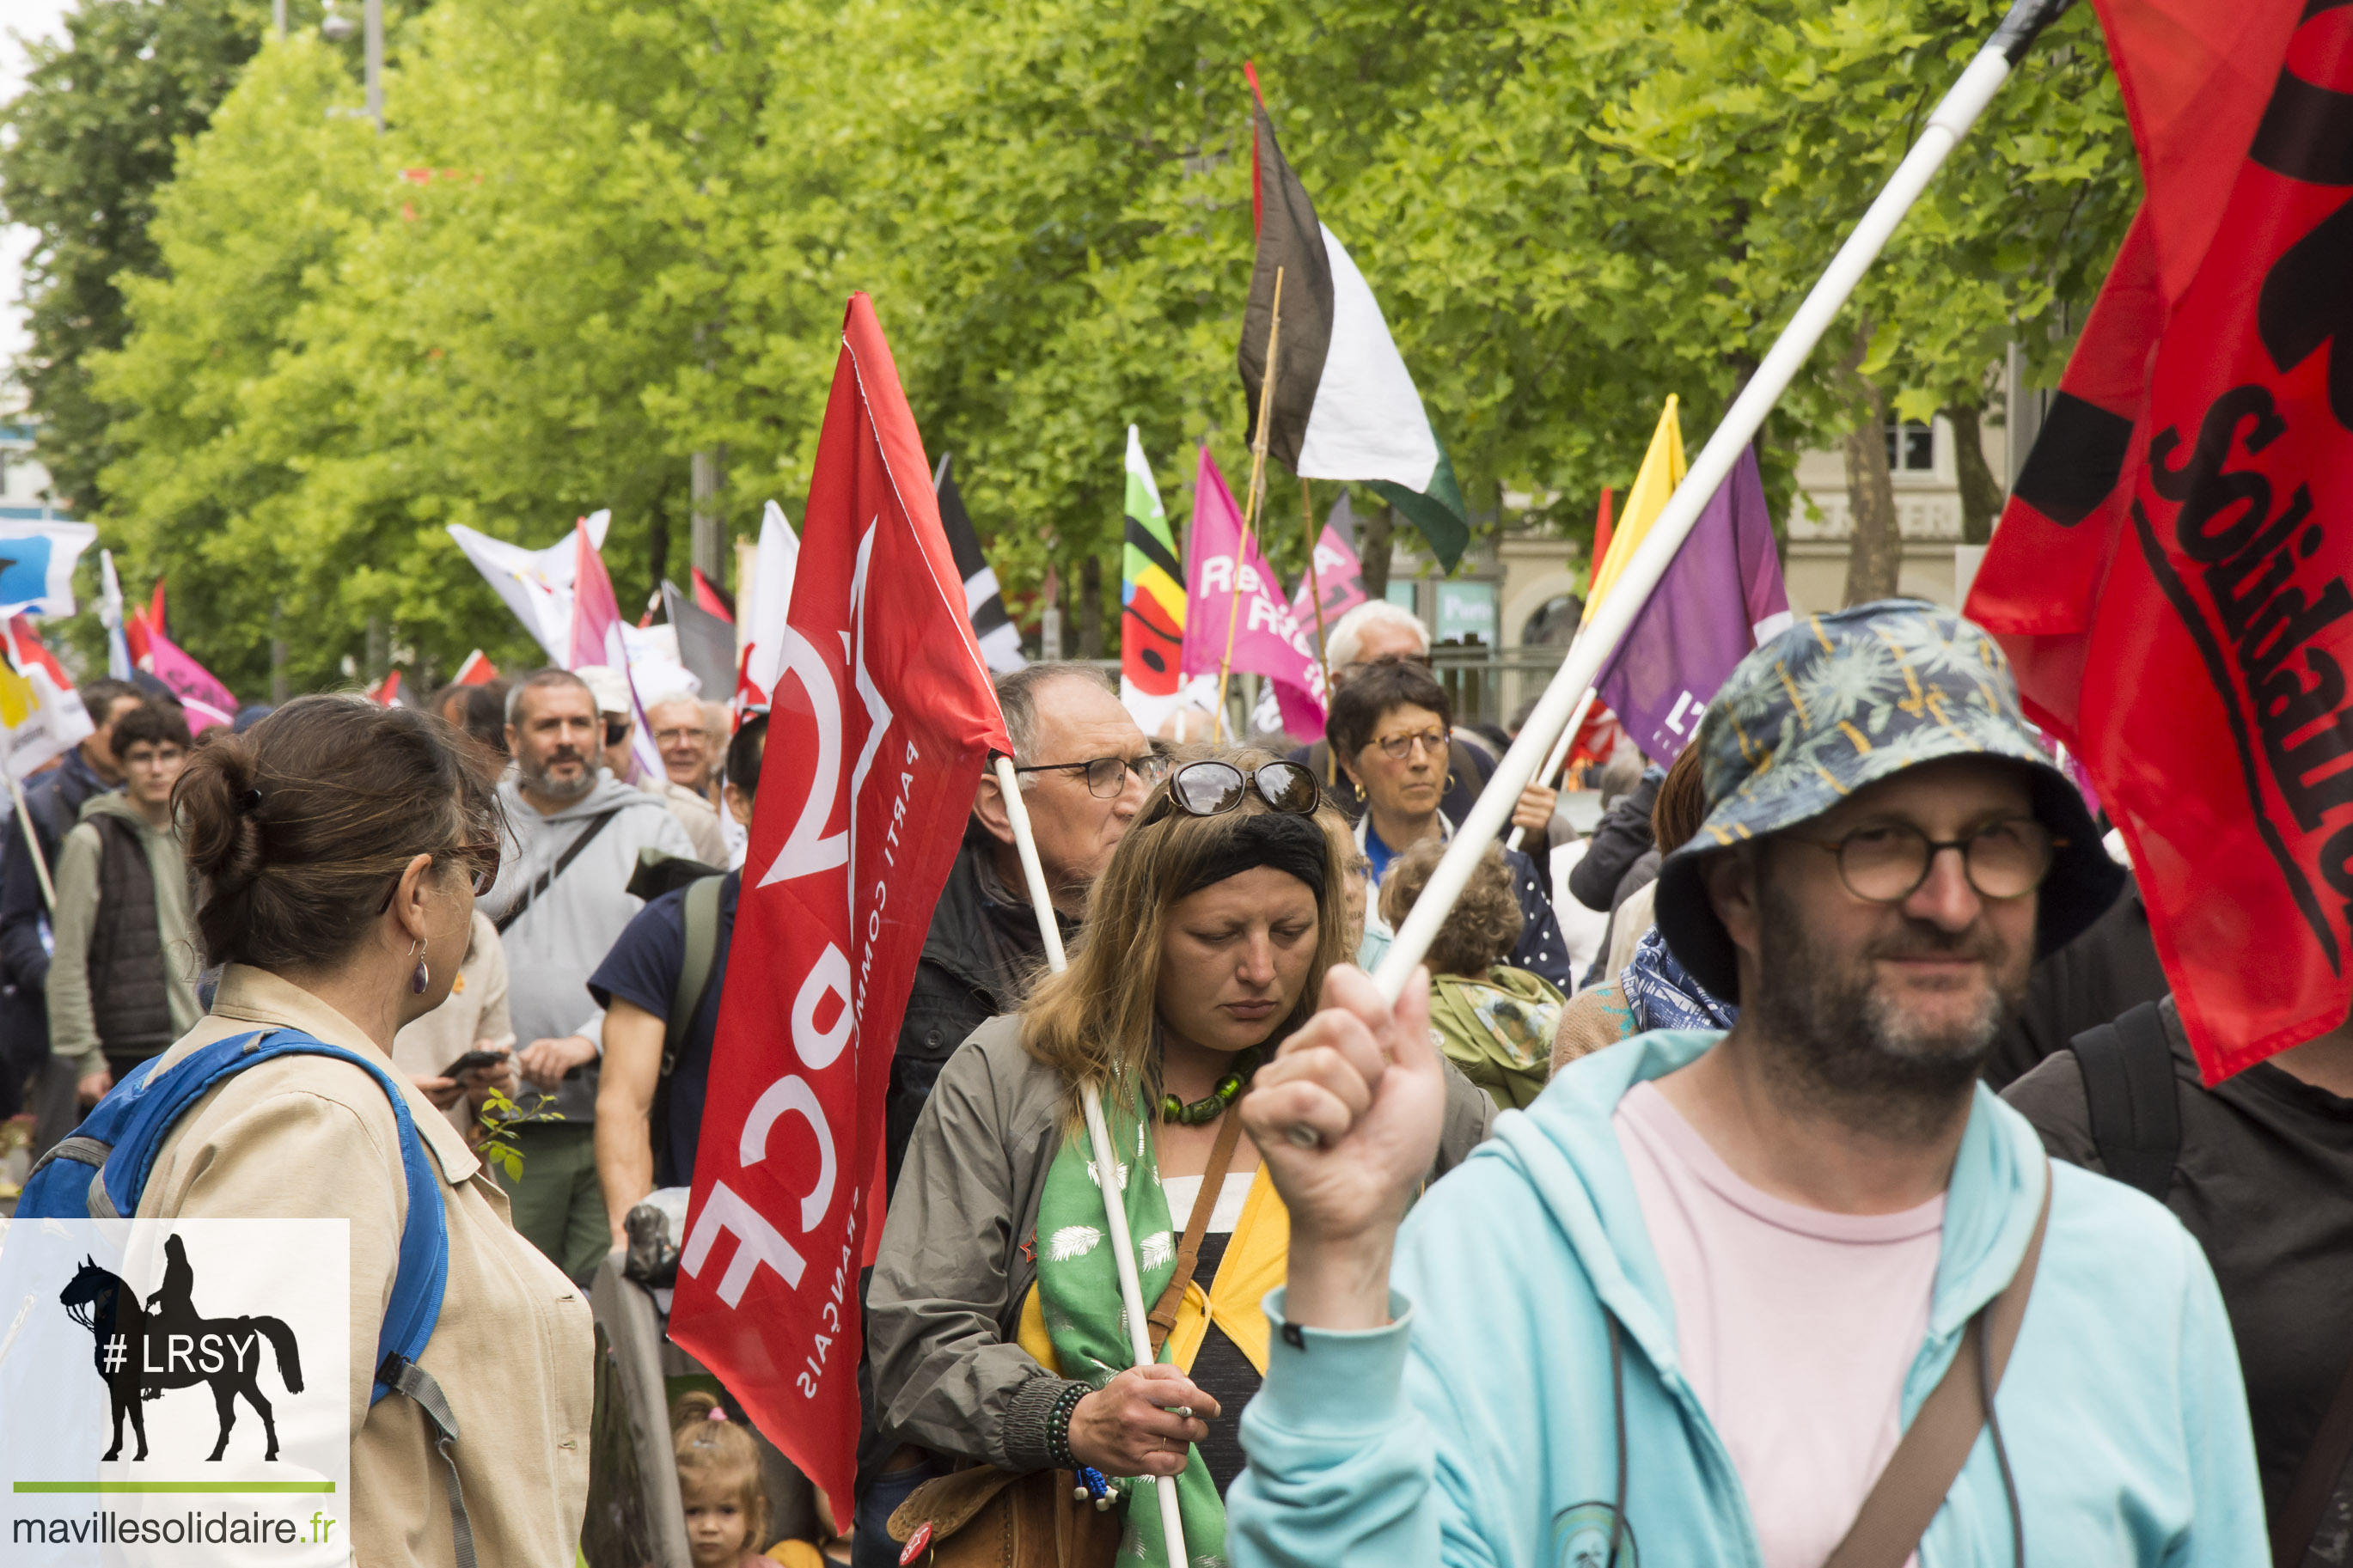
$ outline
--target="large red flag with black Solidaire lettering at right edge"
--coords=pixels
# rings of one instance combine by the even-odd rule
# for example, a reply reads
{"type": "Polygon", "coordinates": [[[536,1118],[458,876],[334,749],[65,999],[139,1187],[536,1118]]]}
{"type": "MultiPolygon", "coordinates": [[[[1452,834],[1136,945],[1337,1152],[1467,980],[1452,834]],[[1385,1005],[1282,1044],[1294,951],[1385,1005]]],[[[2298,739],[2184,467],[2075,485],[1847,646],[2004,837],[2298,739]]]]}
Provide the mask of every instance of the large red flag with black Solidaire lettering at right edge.
{"type": "Polygon", "coordinates": [[[2207,1081],[2353,1004],[2353,7],[2097,0],[2148,197],[1969,592],[2207,1081]]]}

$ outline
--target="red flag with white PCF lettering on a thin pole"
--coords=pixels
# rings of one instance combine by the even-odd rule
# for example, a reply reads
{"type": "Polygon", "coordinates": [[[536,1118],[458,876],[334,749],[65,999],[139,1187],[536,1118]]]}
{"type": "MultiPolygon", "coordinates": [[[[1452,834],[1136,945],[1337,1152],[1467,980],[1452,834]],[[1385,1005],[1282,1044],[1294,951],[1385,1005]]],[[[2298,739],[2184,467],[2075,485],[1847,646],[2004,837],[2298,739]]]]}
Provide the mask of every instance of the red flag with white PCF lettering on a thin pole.
{"type": "Polygon", "coordinates": [[[892,1044],[981,764],[1012,750],[864,294],[784,644],[671,1338],[847,1516],[892,1044]]]}

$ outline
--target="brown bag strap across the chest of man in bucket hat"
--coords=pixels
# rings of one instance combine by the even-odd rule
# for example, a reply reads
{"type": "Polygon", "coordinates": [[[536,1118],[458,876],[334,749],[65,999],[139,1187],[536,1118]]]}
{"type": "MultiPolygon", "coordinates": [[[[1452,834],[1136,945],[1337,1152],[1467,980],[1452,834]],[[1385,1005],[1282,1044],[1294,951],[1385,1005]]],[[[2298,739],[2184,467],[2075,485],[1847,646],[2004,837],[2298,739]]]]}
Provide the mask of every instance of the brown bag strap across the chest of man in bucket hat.
{"type": "Polygon", "coordinates": [[[1871,1486],[1847,1537],[1838,1542],[1838,1552],[1824,1568],[1904,1568],[1904,1559],[1920,1547],[1920,1535],[1944,1507],[1944,1495],[1953,1490],[1953,1476],[1969,1460],[1977,1432],[1986,1425],[1979,1354],[1988,1356],[1988,1387],[2002,1385],[2009,1347],[2019,1342],[2019,1324],[2026,1319],[2026,1298],[2035,1291],[2035,1262],[2042,1258],[2042,1232],[2049,1227],[2049,1218],[2052,1190],[2045,1166],[2042,1213],[2035,1215],[2035,1234],[2026,1241],[2019,1272],[2009,1276],[2000,1295],[1969,1319],[1953,1366],[1920,1403],[1920,1413],[1904,1432],[1904,1441],[1897,1443],[1887,1469],[1871,1486]]]}

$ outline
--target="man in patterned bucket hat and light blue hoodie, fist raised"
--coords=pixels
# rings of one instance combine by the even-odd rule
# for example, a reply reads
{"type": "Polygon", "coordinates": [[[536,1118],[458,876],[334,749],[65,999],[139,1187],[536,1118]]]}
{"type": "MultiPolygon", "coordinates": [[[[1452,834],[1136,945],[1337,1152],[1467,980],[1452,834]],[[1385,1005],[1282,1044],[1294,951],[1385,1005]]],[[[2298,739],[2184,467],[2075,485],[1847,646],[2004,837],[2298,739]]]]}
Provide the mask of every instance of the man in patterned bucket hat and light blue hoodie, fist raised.
{"type": "Polygon", "coordinates": [[[1402,1229],[1426,987],[1334,971],[1259,1072],[1292,1253],[1235,1561],[2266,1561],[2195,1244],[1977,1086],[2118,889],[2002,654],[1925,604],[1814,616],[1694,745],[1657,919],[1729,1032],[1572,1063],[1402,1229]]]}

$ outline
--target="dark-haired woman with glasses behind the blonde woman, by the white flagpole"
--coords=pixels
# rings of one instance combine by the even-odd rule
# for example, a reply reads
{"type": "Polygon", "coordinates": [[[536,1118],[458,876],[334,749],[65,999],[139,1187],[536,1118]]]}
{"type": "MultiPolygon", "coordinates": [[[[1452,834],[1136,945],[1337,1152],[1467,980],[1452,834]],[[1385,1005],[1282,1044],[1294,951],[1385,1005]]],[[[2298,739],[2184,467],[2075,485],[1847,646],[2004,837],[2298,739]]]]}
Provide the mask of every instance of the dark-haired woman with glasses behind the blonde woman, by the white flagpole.
{"type": "MultiPolygon", "coordinates": [[[[1367,665],[1332,696],[1325,736],[1339,766],[1365,792],[1365,816],[1355,823],[1355,846],[1372,863],[1367,931],[1391,933],[1379,919],[1381,875],[1388,863],[1421,839],[1452,839],[1454,823],[1440,811],[1449,788],[1447,752],[1454,736],[1454,701],[1438,677],[1417,663],[1367,665]]],[[[1520,900],[1520,943],[1506,959],[1513,969],[1544,976],[1562,992],[1574,990],[1569,947],[1560,940],[1546,877],[1518,849],[1506,849],[1513,896],[1520,900]]]]}

